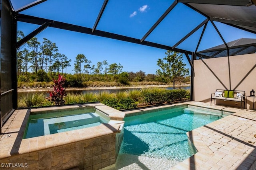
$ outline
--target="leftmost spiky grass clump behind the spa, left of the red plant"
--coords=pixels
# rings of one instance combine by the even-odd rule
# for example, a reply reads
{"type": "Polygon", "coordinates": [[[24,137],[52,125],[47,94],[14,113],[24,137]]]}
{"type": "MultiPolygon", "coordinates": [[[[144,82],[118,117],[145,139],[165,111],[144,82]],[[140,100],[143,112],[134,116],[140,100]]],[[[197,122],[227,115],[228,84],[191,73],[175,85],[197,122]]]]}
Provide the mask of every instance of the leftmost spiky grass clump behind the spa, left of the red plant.
{"type": "Polygon", "coordinates": [[[28,93],[22,96],[18,101],[18,107],[36,107],[42,106],[45,96],[42,93],[28,93]]]}

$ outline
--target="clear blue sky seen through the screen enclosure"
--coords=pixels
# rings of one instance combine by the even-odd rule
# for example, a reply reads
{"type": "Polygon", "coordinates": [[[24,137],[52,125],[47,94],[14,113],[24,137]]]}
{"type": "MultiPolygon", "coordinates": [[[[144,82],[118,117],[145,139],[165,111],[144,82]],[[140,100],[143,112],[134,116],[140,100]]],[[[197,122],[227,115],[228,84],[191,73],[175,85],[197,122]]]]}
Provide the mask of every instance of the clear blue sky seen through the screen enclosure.
{"type": "MultiPolygon", "coordinates": [[[[11,1],[14,9],[33,2],[11,1]]],[[[104,0],[48,0],[21,13],[92,28],[103,2],[104,0]]],[[[109,0],[96,29],[141,39],[172,3],[173,0],[109,0]]],[[[152,31],[146,41],[172,46],[205,19],[204,16],[179,3],[152,31]]],[[[255,34],[222,23],[214,23],[226,42],[242,37],[256,38],[255,34]]],[[[37,27],[39,25],[18,22],[18,30],[23,31],[25,35],[37,27]]],[[[198,29],[177,48],[195,51],[202,29],[203,27],[198,29]]],[[[158,69],[157,60],[166,56],[164,49],[51,27],[36,37],[40,42],[47,38],[56,43],[58,53],[72,60],[68,73],[73,73],[75,57],[78,54],[84,54],[95,65],[97,62],[107,60],[109,64],[121,63],[123,71],[142,70],[147,74],[155,74],[158,69]]],[[[223,42],[209,22],[198,51],[220,44],[223,42]]],[[[184,63],[190,68],[186,57],[184,63]]]]}

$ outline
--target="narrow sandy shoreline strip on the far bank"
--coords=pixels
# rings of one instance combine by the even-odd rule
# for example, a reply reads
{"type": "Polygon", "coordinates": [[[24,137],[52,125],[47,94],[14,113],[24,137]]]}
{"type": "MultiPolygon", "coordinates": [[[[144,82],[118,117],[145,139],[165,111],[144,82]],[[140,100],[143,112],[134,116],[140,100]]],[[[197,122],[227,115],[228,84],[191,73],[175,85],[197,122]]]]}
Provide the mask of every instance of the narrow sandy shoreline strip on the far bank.
{"type": "MultiPolygon", "coordinates": [[[[182,87],[188,87],[190,84],[182,84],[182,87]]],[[[143,86],[112,86],[112,87],[86,87],[86,88],[66,88],[66,91],[72,90],[110,90],[110,89],[124,89],[124,88],[150,88],[150,87],[172,87],[170,85],[143,85],[143,86]]],[[[178,88],[178,87],[176,87],[178,88]]],[[[47,92],[52,91],[53,88],[18,88],[18,92],[47,92]]]]}

